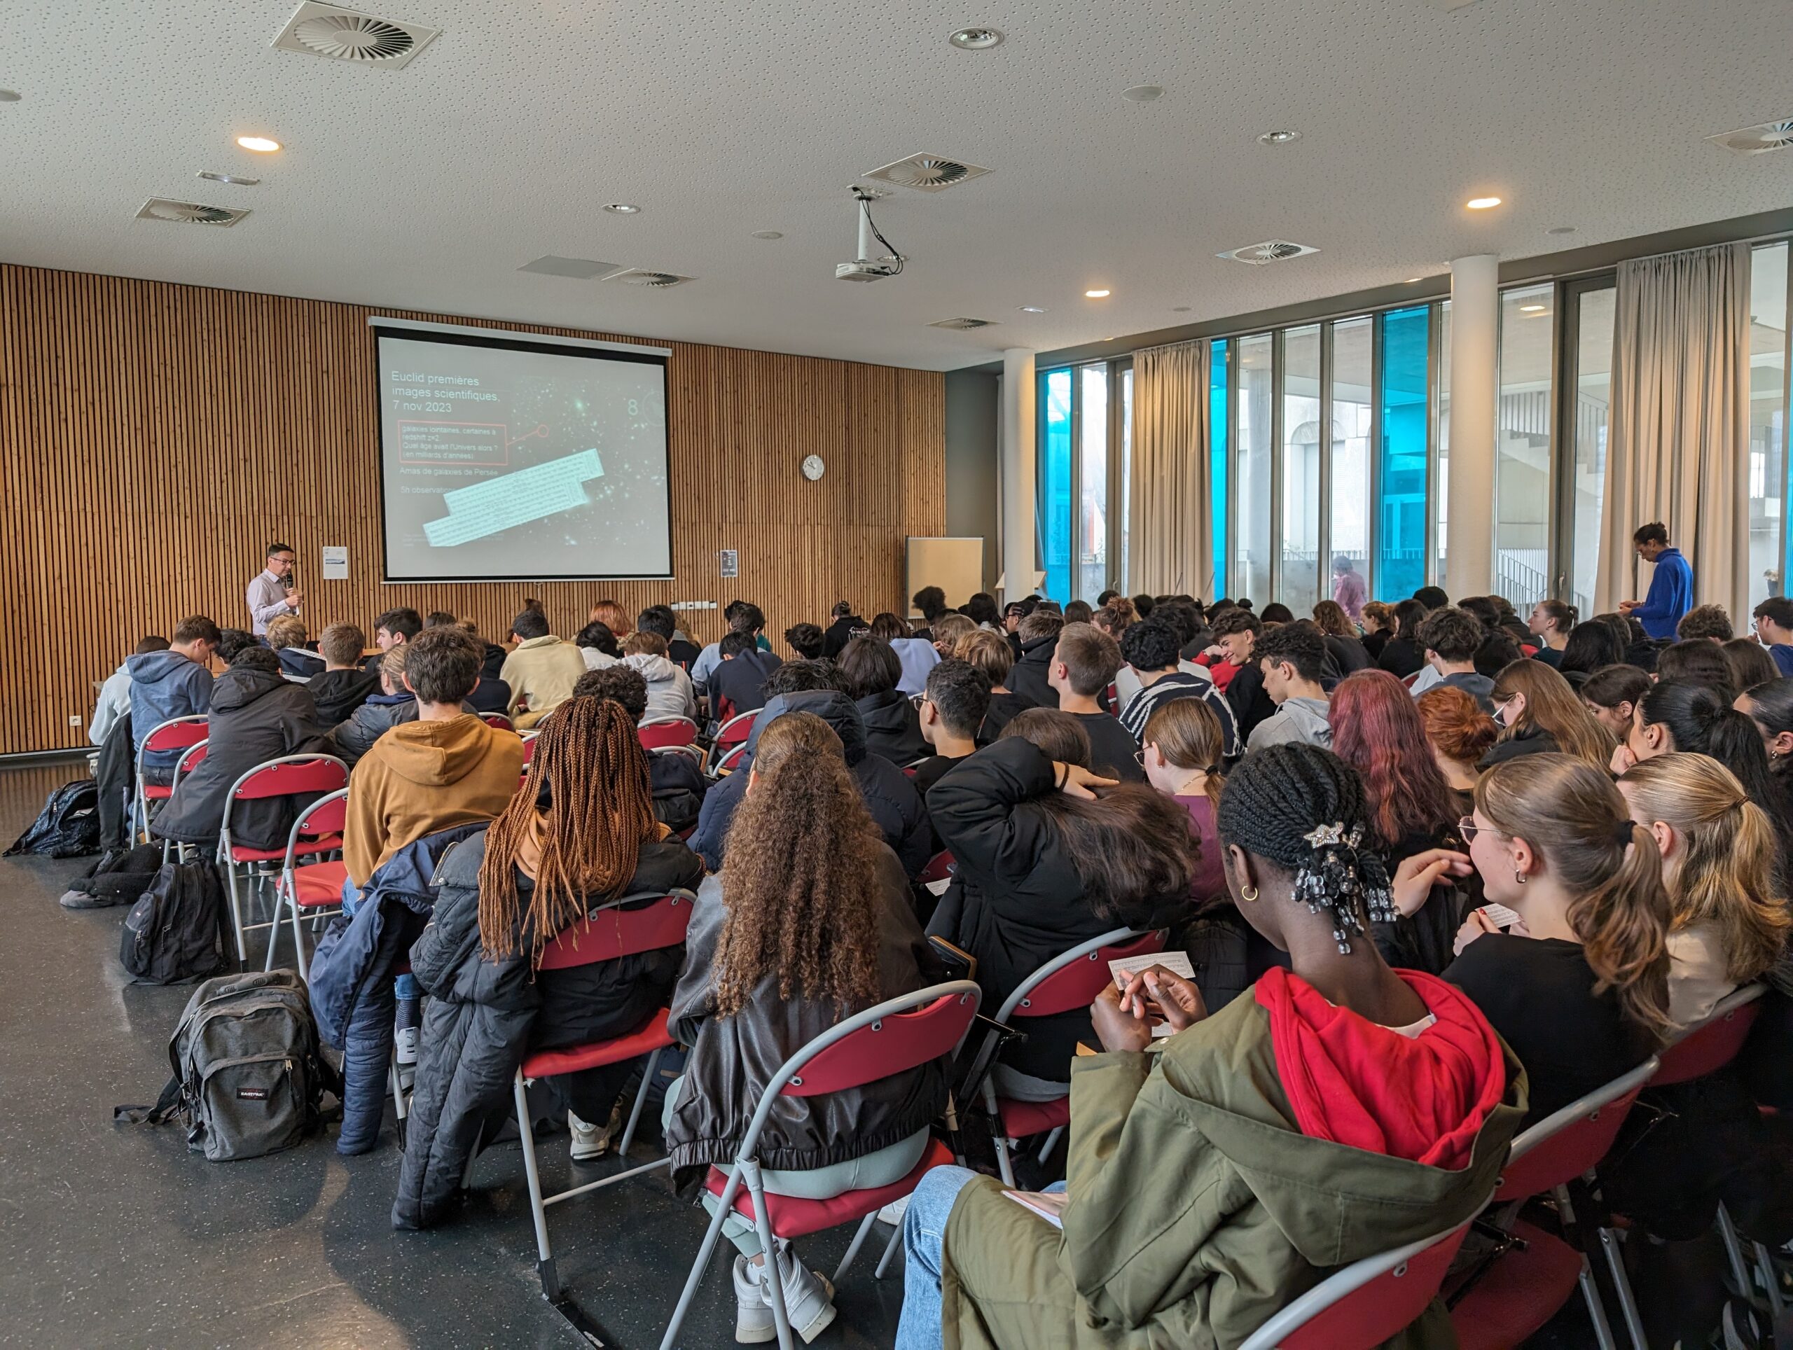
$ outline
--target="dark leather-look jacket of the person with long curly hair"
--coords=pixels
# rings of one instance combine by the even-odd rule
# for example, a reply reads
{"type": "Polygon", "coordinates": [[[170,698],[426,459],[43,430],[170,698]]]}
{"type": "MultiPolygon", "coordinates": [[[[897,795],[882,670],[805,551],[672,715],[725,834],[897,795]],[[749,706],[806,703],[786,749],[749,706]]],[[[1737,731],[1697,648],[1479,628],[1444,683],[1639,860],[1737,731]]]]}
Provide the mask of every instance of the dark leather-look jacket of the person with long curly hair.
{"type": "MultiPolygon", "coordinates": [[[[879,916],[879,1002],[943,979],[909,904],[902,864],[888,848],[875,875],[864,878],[864,904],[879,916]]],[[[685,970],[672,995],[672,1036],[692,1047],[667,1128],[676,1183],[699,1178],[708,1164],[733,1160],[760,1090],[791,1054],[841,1020],[832,1004],[780,999],[767,975],[753,1002],[717,1018],[710,966],[723,932],[723,878],[708,877],[697,891],[685,970]]],[[[870,1008],[871,1004],[862,1004],[870,1008]]],[[[857,1013],[861,1008],[848,1009],[857,1013]]],[[[862,1088],[819,1097],[778,1097],[760,1135],[766,1167],[810,1171],[898,1144],[940,1115],[947,1077],[940,1061],[862,1088]]]]}

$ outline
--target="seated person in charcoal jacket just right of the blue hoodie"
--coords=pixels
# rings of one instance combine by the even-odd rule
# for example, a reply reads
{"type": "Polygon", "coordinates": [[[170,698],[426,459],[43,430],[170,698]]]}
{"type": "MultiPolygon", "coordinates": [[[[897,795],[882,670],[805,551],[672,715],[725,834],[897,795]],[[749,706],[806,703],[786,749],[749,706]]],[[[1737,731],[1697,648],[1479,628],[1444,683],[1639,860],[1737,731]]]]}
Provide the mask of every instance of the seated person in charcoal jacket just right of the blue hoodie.
{"type": "MultiPolygon", "coordinates": [[[[215,843],[235,782],[267,760],[307,751],[330,753],[310,690],[282,676],[280,658],[267,647],[238,651],[212,685],[206,757],[176,783],[151,830],[183,844],[215,843]]],[[[231,843],[285,848],[303,805],[290,796],[235,803],[231,843]]]]}

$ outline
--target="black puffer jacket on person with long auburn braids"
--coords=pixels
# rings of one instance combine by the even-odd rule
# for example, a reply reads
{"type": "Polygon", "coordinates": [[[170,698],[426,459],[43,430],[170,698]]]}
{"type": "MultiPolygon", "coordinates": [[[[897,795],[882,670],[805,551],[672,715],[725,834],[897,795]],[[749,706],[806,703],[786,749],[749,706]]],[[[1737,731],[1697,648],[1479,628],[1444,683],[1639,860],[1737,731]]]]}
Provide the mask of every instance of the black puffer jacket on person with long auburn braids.
{"type": "MultiPolygon", "coordinates": [[[[394,1228],[441,1219],[461,1185],[475,1142],[491,1138],[511,1112],[511,1081],[536,1049],[622,1036],[665,1008],[683,948],[645,952],[531,979],[529,943],[488,961],[479,941],[479,868],[486,835],[457,844],[436,871],[436,909],[411,948],[411,974],[430,995],[423,1013],[418,1077],[405,1160],[393,1203],[394,1228]]],[[[690,889],[703,864],[676,839],[642,844],[629,893],[690,889]]],[[[518,875],[518,913],[533,882],[518,875]]],[[[599,902],[602,904],[602,902],[599,902]]]]}

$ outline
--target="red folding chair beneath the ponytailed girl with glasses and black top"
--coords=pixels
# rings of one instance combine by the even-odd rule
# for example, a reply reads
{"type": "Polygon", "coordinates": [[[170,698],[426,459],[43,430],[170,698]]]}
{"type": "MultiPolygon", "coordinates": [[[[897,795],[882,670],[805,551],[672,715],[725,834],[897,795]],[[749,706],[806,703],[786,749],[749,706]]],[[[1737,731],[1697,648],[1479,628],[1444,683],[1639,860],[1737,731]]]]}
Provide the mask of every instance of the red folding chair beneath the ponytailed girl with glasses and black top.
{"type": "MultiPolygon", "coordinates": [[[[1572,1232],[1569,1181],[1585,1176],[1607,1156],[1632,1103],[1655,1072],[1657,1060],[1644,1060],[1632,1072],[1569,1103],[1513,1140],[1494,1189],[1494,1203],[1503,1207],[1497,1226],[1513,1244],[1451,1298],[1451,1325],[1463,1350],[1513,1350],[1574,1298],[1576,1285],[1587,1300],[1587,1314],[1601,1350],[1615,1350],[1587,1253],[1517,1216],[1526,1199],[1555,1192],[1563,1226],[1572,1232]]],[[[1599,1237],[1632,1337],[1642,1348],[1637,1303],[1617,1241],[1610,1230],[1601,1230],[1599,1237]]]]}

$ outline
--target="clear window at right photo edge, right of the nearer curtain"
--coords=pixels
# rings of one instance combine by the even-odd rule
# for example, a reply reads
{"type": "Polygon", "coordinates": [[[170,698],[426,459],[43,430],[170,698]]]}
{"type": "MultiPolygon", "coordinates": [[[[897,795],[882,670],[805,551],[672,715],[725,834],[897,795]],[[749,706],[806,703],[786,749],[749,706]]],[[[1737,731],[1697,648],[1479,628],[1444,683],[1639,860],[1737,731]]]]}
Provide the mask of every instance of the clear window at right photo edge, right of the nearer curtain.
{"type": "Polygon", "coordinates": [[[1788,246],[1750,258],[1750,608],[1786,595],[1788,246]]]}

